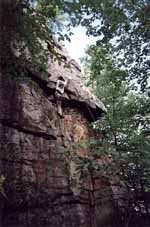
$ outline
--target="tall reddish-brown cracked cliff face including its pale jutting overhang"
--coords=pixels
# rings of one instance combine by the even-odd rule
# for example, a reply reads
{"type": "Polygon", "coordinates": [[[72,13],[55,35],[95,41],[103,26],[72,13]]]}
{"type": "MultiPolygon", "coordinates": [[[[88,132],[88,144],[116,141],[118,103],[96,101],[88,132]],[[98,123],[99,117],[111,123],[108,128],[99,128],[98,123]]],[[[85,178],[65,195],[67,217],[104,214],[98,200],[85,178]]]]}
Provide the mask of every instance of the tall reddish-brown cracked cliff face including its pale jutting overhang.
{"type": "MultiPolygon", "coordinates": [[[[81,82],[76,63],[63,56],[69,68],[49,60],[44,75],[31,64],[25,64],[25,77],[1,74],[0,175],[5,181],[0,226],[109,226],[109,183],[95,179],[94,192],[86,182],[86,190],[76,193],[65,152],[90,137],[89,121],[106,109],[81,82]]],[[[81,156],[86,152],[79,150],[81,156]]]]}

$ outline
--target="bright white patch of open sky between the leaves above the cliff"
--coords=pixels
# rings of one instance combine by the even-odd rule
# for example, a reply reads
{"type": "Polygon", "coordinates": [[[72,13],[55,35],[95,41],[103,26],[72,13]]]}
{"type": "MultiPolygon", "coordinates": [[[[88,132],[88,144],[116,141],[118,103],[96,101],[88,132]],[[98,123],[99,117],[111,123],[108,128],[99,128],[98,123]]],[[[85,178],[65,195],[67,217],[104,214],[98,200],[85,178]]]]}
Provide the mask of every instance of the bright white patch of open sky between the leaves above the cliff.
{"type": "Polygon", "coordinates": [[[71,42],[65,41],[65,47],[71,58],[75,59],[79,64],[80,58],[84,57],[87,46],[94,44],[96,37],[87,36],[86,29],[82,26],[72,29],[74,35],[71,36],[71,42]]]}

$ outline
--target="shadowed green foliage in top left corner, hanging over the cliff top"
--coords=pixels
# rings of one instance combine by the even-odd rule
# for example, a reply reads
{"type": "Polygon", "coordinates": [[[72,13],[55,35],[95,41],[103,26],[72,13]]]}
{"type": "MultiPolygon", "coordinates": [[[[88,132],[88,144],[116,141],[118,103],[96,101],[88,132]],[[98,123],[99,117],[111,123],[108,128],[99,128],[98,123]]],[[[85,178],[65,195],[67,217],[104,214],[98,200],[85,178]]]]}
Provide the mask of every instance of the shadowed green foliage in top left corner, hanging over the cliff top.
{"type": "Polygon", "coordinates": [[[13,49],[21,61],[28,60],[46,70],[50,51],[51,54],[56,54],[53,51],[54,46],[48,50],[47,41],[53,40],[54,36],[58,40],[69,38],[63,33],[65,2],[2,0],[0,4],[1,28],[5,26],[5,32],[1,31],[3,59],[5,58],[7,63],[12,62],[10,50],[13,49]]]}

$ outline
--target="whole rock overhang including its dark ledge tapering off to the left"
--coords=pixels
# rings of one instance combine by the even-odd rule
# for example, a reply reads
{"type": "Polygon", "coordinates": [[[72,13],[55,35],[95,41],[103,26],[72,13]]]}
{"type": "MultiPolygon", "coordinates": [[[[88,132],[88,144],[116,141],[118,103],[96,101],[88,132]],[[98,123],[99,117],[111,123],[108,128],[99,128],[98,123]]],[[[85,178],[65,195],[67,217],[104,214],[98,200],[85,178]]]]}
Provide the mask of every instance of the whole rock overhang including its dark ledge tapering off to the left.
{"type": "Polygon", "coordinates": [[[29,62],[23,62],[22,66],[30,72],[30,76],[36,80],[39,85],[48,91],[49,99],[54,100],[54,93],[57,88],[58,80],[65,82],[63,93],[61,93],[62,105],[77,107],[90,121],[97,120],[102,113],[107,112],[104,104],[87,88],[81,68],[78,63],[71,59],[62,44],[53,42],[53,48],[59,56],[59,61],[50,56],[48,59],[47,72],[41,72],[35,65],[29,62]]]}

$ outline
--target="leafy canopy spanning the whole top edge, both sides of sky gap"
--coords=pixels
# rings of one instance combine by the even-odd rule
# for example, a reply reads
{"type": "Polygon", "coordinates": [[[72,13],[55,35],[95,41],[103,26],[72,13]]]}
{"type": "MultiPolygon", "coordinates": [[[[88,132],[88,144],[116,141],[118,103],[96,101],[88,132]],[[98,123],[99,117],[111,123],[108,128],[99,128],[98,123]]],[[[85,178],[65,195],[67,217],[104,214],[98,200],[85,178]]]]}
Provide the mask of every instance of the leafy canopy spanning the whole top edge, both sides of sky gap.
{"type": "Polygon", "coordinates": [[[149,87],[149,0],[14,0],[10,10],[13,18],[9,19],[15,23],[13,45],[20,44],[22,57],[28,53],[32,62],[44,65],[49,54],[45,41],[54,36],[70,40],[71,27],[81,24],[87,35],[98,37],[97,46],[105,48],[119,68],[126,68],[142,91],[149,87]]]}

